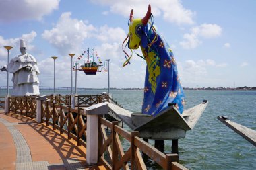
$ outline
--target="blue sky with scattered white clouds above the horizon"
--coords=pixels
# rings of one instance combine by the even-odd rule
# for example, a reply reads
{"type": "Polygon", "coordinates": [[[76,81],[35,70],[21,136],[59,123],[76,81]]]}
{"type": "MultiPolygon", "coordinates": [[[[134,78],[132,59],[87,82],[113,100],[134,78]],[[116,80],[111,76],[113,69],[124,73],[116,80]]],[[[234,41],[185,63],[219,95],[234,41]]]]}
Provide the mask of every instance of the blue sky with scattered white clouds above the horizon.
{"type": "MultiPolygon", "coordinates": [[[[53,86],[51,56],[58,56],[55,85],[71,87],[68,54],[74,53],[75,61],[95,48],[102,61],[110,59],[110,87],[143,88],[146,62],[133,55],[123,67],[122,43],[131,9],[141,18],[148,4],[158,34],[174,52],[183,87],[256,86],[254,0],[1,0],[0,66],[7,64],[3,46],[13,46],[11,59],[20,54],[22,38],[38,62],[41,85],[53,86]]],[[[77,72],[77,87],[104,88],[107,80],[107,72],[77,72]]],[[[0,86],[6,85],[7,73],[0,72],[0,86]]]]}

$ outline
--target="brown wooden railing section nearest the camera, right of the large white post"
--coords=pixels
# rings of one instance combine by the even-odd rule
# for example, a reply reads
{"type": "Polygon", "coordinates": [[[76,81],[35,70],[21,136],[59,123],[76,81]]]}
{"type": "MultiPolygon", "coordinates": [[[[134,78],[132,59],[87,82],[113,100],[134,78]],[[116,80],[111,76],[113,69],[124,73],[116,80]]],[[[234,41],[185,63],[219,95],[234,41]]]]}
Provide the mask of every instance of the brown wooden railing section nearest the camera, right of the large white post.
{"type": "Polygon", "coordinates": [[[127,132],[117,124],[100,118],[99,133],[104,142],[99,144],[98,160],[106,169],[147,169],[141,154],[150,157],[162,169],[187,169],[178,163],[179,155],[164,154],[139,138],[139,132],[127,132]],[[109,135],[105,127],[111,130],[109,135]],[[120,137],[130,143],[126,151],[120,137]]]}

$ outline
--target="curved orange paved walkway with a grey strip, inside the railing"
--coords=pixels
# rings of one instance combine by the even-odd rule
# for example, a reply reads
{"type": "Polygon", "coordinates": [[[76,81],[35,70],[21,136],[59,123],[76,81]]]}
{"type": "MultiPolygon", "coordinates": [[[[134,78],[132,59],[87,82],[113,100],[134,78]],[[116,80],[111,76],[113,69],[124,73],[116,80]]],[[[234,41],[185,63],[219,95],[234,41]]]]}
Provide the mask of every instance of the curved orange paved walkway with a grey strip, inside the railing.
{"type": "Polygon", "coordinates": [[[0,169],[104,169],[86,165],[86,148],[58,130],[0,110],[0,169]]]}

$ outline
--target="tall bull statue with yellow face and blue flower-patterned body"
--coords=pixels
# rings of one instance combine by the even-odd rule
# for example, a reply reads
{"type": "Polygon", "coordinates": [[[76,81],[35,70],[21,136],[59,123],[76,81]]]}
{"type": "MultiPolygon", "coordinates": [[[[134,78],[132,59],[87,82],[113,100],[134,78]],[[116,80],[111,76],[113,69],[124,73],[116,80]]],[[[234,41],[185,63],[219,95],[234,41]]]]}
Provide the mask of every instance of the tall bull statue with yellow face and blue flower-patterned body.
{"type": "MultiPolygon", "coordinates": [[[[132,9],[129,18],[129,34],[124,41],[128,39],[126,45],[131,50],[140,46],[143,54],[140,57],[147,63],[142,114],[156,116],[171,103],[182,114],[185,101],[177,63],[167,42],[156,33],[152,17],[150,5],[143,19],[134,19],[132,9]]],[[[126,52],[125,57],[127,60],[123,66],[127,65],[131,59],[126,52]]]]}

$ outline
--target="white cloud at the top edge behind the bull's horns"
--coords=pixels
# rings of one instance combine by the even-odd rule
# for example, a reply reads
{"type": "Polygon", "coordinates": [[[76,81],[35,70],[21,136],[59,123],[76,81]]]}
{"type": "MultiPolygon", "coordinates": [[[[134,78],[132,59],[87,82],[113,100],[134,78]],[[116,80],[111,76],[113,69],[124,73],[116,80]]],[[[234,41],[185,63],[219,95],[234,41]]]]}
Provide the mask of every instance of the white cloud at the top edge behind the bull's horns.
{"type": "Polygon", "coordinates": [[[180,0],[141,0],[141,1],[114,1],[114,0],[96,0],[94,3],[109,5],[111,13],[118,13],[124,17],[129,17],[131,9],[134,10],[135,18],[143,17],[148,9],[148,4],[152,6],[152,14],[154,16],[162,15],[162,17],[175,24],[193,24],[195,12],[183,7],[180,0]]]}

